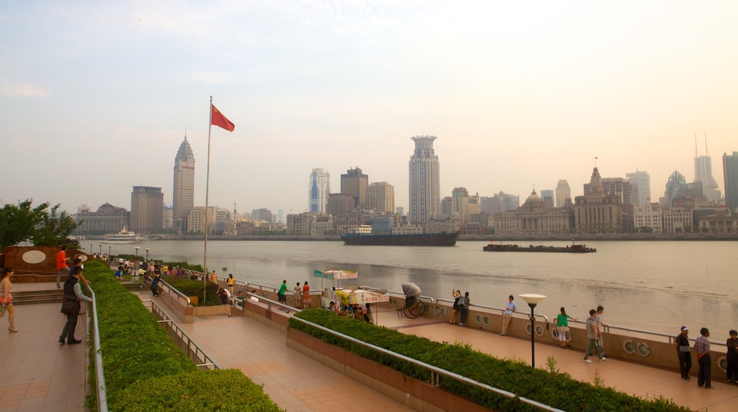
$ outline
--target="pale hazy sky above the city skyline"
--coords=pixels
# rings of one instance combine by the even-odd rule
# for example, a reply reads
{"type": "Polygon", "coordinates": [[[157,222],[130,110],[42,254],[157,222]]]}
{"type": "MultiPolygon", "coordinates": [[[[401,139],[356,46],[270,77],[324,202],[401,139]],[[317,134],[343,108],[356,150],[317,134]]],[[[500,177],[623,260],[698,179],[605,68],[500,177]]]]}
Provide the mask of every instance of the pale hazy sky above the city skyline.
{"type": "Polygon", "coordinates": [[[195,205],[308,207],[358,166],[408,206],[410,137],[438,137],[441,193],[567,179],[694,179],[738,151],[738,1],[13,1],[0,6],[0,199],[76,212],[172,202],[187,128],[195,205]]]}

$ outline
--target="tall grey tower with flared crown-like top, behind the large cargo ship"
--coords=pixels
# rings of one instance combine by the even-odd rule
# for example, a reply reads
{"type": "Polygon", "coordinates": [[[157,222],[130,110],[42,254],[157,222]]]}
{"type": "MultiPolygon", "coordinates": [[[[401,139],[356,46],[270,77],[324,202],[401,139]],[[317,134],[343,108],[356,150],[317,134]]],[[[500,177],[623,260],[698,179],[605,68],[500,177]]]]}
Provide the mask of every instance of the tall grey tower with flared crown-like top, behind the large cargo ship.
{"type": "Polygon", "coordinates": [[[433,151],[435,136],[410,137],[415,153],[410,157],[410,223],[425,224],[441,212],[441,166],[433,151]]]}

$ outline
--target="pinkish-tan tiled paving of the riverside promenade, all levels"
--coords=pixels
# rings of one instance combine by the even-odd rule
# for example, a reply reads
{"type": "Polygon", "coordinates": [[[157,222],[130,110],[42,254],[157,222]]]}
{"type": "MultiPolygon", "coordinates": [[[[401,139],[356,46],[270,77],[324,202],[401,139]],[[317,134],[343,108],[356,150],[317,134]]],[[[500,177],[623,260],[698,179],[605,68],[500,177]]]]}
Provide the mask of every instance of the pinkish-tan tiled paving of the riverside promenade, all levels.
{"type": "MultiPolygon", "coordinates": [[[[13,287],[15,292],[55,286],[15,284],[13,287]]],[[[141,292],[139,297],[153,299],[170,312],[164,301],[150,294],[141,292]]],[[[0,376],[0,412],[84,410],[87,347],[83,344],[59,345],[58,335],[66,320],[59,313],[59,306],[59,303],[16,306],[15,323],[20,332],[0,333],[0,363],[4,365],[4,374],[0,376]]],[[[290,316],[294,312],[286,314],[277,310],[275,313],[290,316]]],[[[171,313],[170,316],[173,317],[171,313]]],[[[461,328],[423,317],[410,320],[398,317],[393,309],[376,312],[376,321],[399,332],[439,342],[469,343],[495,357],[531,361],[530,340],[461,328]]],[[[0,319],[1,322],[7,320],[0,319]]],[[[86,339],[86,322],[87,317],[80,315],[78,339],[86,339]]],[[[411,410],[290,349],[285,334],[252,317],[197,317],[194,323],[179,323],[179,326],[221,368],[240,369],[255,383],[263,385],[266,394],[286,411],[411,410]]],[[[663,396],[695,411],[738,409],[738,385],[728,385],[724,377],[714,377],[715,389],[708,391],[697,387],[696,378],[689,382],[681,380],[677,371],[614,359],[583,363],[582,356],[582,351],[536,344],[539,368],[545,368],[546,359],[554,357],[559,371],[584,382],[593,383],[599,378],[601,385],[618,391],[646,399],[663,396]]],[[[692,371],[697,371],[696,362],[692,371]]]]}

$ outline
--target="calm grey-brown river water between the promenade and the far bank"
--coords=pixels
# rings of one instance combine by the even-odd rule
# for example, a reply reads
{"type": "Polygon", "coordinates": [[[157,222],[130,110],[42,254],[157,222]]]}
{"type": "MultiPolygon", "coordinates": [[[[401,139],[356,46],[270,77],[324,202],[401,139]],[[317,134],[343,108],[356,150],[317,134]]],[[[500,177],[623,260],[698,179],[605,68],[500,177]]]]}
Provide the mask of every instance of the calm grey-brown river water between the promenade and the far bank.
{"type": "MultiPolygon", "coordinates": [[[[514,243],[514,242],[505,242],[514,243]]],[[[521,245],[531,241],[517,242],[521,245]]],[[[532,242],[564,246],[565,241],[532,242]]],[[[418,284],[423,295],[469,292],[472,303],[504,306],[514,295],[546,295],[536,308],[549,318],[565,306],[583,320],[589,309],[604,306],[604,323],[677,334],[682,325],[692,336],[706,326],[713,340],[738,329],[738,242],[736,241],[591,241],[597,253],[490,253],[486,242],[459,241],[455,247],[345,246],[340,241],[208,241],[207,266],[224,278],[292,289],[320,279],[313,270],[357,270],[352,284],[401,291],[418,284]]],[[[148,241],[149,256],[202,264],[203,241],[148,241]]],[[[134,253],[134,245],[114,245],[115,253],[134,253]]],[[[330,281],[325,281],[325,286],[330,281]]],[[[347,281],[343,281],[346,283],[347,281]]]]}

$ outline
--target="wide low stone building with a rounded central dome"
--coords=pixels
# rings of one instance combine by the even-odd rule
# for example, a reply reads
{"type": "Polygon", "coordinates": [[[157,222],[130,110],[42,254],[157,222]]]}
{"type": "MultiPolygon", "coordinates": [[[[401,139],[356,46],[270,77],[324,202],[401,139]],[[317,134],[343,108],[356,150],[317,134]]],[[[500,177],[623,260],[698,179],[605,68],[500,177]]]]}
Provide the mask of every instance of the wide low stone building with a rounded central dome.
{"type": "Polygon", "coordinates": [[[523,206],[494,216],[495,235],[554,235],[570,233],[574,213],[569,207],[545,207],[534,189],[523,206]]]}

